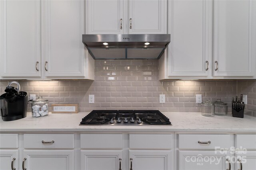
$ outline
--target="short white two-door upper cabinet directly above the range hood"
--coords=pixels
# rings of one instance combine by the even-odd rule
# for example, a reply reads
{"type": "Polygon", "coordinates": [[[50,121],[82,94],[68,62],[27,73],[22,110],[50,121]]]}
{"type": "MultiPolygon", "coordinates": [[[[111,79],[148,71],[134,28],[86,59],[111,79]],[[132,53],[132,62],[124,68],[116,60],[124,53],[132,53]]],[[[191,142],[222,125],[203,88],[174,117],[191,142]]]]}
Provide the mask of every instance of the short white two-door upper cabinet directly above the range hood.
{"type": "Polygon", "coordinates": [[[86,0],[88,34],[167,33],[167,0],[86,0]]]}

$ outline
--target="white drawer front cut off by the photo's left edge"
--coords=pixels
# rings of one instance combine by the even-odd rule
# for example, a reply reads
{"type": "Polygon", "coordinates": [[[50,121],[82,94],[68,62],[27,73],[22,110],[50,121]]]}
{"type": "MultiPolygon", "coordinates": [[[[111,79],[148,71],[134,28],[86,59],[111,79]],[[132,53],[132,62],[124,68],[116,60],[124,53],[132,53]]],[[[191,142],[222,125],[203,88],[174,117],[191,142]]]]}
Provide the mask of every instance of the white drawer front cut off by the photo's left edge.
{"type": "Polygon", "coordinates": [[[0,134],[0,148],[18,148],[19,134],[1,133],[0,134]]]}

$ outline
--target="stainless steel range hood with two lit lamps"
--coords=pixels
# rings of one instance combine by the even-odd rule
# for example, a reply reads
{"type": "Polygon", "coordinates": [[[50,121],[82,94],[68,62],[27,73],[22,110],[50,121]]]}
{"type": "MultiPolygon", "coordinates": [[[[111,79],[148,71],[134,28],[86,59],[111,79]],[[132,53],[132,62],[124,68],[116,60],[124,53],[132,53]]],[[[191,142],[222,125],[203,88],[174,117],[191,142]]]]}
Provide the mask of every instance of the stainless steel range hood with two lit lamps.
{"type": "Polygon", "coordinates": [[[159,59],[170,43],[170,39],[170,34],[82,35],[82,41],[85,47],[88,49],[90,55],[97,60],[159,59]]]}

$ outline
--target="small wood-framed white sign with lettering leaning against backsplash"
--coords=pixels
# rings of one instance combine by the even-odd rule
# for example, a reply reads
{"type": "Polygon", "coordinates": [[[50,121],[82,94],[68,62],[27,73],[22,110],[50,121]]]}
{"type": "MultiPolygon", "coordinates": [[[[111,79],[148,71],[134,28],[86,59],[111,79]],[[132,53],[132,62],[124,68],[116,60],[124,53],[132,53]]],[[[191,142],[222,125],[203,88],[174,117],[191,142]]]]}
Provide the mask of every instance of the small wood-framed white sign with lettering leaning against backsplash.
{"type": "Polygon", "coordinates": [[[52,113],[78,113],[78,104],[52,104],[52,113]]]}

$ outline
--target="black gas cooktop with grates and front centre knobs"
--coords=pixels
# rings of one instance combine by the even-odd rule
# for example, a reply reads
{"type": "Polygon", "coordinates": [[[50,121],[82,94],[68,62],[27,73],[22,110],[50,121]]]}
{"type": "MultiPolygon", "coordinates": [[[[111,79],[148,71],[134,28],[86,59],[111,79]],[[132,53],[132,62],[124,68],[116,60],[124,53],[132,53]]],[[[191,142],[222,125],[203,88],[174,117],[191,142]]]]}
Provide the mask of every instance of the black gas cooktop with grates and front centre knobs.
{"type": "Polygon", "coordinates": [[[93,110],[80,125],[169,125],[159,110],[93,110]]]}

